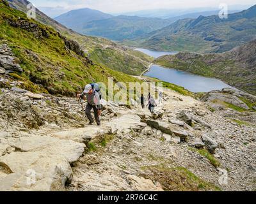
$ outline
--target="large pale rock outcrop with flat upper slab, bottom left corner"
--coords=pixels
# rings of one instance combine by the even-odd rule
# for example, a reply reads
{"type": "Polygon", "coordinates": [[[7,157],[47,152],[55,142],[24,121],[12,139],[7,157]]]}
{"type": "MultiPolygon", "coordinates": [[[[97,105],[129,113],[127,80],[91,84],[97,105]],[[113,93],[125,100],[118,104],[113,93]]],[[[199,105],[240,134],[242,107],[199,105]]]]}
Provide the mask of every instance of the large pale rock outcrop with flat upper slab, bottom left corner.
{"type": "Polygon", "coordinates": [[[65,190],[66,182],[72,179],[70,164],[83,155],[85,148],[82,143],[51,136],[8,139],[5,146],[0,166],[10,172],[0,179],[0,190],[4,191],[65,190]],[[10,147],[15,152],[7,154],[10,147]]]}

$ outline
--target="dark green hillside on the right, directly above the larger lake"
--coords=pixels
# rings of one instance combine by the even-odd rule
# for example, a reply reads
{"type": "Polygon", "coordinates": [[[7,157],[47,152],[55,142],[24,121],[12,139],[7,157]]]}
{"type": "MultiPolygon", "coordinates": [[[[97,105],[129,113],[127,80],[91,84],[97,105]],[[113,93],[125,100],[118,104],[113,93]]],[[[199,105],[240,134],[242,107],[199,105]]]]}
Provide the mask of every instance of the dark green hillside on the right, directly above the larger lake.
{"type": "Polygon", "coordinates": [[[234,87],[256,94],[256,40],[223,54],[180,52],[164,55],[155,62],[169,68],[217,77],[234,87]]]}

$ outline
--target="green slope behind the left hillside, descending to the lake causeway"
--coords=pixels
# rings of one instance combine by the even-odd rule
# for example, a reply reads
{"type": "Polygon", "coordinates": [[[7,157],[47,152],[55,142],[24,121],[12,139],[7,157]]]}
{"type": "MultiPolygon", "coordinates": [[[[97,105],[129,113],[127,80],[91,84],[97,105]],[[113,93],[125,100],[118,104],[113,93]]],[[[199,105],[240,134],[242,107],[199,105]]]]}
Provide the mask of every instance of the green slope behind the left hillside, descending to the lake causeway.
{"type": "Polygon", "coordinates": [[[104,64],[108,68],[122,71],[129,75],[140,75],[148,68],[150,62],[154,60],[142,52],[124,48],[112,41],[80,36],[77,34],[65,34],[68,38],[76,40],[83,50],[88,50],[87,55],[98,64],[104,64]]]}

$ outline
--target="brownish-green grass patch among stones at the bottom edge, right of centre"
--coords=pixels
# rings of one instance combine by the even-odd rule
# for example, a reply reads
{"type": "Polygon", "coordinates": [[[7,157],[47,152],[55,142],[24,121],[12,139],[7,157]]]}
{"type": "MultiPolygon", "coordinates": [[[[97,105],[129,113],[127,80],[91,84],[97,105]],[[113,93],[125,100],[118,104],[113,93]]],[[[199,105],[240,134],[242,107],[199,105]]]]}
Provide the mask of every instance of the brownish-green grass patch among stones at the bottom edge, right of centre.
{"type": "Polygon", "coordinates": [[[219,187],[197,177],[184,167],[168,167],[166,164],[142,166],[141,176],[159,182],[164,191],[221,191],[219,187]]]}

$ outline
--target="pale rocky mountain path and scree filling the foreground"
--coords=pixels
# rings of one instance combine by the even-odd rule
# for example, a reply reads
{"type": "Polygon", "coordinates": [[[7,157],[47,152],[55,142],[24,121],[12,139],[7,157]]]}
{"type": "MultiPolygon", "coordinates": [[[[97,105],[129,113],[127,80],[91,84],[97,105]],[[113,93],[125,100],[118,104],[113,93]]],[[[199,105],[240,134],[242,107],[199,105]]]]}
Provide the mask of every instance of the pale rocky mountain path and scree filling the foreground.
{"type": "Polygon", "coordinates": [[[212,112],[164,89],[154,114],[102,101],[99,127],[86,125],[77,99],[1,91],[3,191],[256,189],[254,112],[212,112]],[[237,115],[252,122],[238,124],[237,115]]]}

